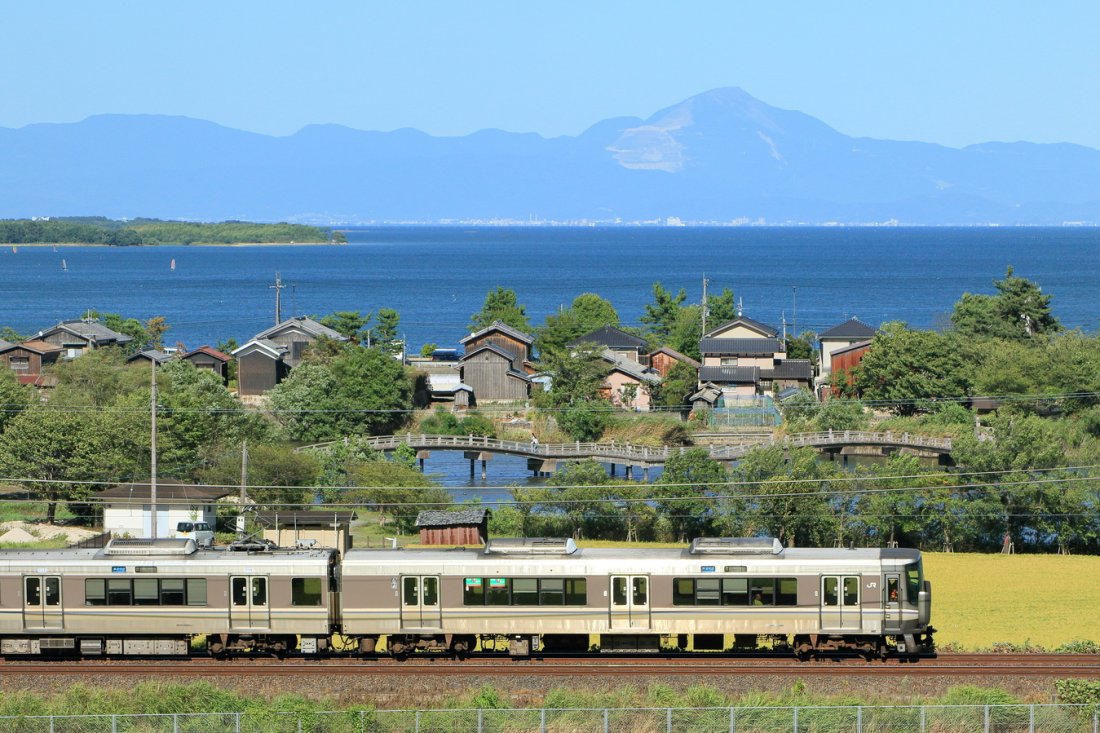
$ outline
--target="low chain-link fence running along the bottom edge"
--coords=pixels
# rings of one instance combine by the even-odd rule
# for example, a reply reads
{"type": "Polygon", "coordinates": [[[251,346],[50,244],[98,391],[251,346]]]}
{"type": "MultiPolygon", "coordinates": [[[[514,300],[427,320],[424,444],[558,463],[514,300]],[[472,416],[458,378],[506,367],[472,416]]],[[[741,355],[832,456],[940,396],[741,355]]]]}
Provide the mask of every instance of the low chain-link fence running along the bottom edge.
{"type": "Polygon", "coordinates": [[[1096,705],[362,710],[0,718],[2,733],[1100,733],[1096,705]]]}

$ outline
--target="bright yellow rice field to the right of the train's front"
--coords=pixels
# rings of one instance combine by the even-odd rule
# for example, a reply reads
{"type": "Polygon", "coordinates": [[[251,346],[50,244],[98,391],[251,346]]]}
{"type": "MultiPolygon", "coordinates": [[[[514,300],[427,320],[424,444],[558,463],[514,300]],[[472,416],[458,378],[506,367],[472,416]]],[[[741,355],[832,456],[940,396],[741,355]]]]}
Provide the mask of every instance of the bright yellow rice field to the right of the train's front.
{"type": "Polygon", "coordinates": [[[1100,557],[924,554],[936,644],[1100,643],[1100,557]]]}

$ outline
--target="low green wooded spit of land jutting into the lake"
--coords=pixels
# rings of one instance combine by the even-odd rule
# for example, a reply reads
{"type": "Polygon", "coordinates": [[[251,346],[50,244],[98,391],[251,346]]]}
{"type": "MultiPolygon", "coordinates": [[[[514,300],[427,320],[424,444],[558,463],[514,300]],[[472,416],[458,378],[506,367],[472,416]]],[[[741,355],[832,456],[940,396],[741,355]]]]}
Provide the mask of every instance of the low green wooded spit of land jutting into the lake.
{"type": "Polygon", "coordinates": [[[337,242],[342,232],[322,227],[249,221],[162,221],[105,217],[0,219],[0,244],[289,244],[337,242]]]}

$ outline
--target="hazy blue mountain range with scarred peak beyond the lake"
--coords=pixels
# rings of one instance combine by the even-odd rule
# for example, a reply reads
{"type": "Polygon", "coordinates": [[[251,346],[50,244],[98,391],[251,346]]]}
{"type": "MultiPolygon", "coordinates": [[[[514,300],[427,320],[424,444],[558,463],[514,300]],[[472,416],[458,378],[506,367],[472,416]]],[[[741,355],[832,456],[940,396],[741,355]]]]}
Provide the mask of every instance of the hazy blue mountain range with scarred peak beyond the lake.
{"type": "Polygon", "coordinates": [[[435,138],[183,117],[0,128],[0,217],[307,223],[1100,222],[1100,151],[850,138],[741,89],[580,135],[435,138]]]}

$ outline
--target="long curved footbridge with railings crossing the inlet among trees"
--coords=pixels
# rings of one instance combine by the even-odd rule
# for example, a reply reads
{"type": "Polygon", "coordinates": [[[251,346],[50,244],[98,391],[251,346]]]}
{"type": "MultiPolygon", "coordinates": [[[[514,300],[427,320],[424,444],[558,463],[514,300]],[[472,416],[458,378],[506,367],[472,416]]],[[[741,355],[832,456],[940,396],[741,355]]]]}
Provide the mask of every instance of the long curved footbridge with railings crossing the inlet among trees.
{"type": "MultiPolygon", "coordinates": [[[[879,455],[903,450],[921,456],[947,457],[952,450],[950,438],[935,438],[913,433],[872,433],[867,430],[827,430],[823,433],[795,433],[780,438],[774,436],[755,436],[752,438],[730,435],[736,442],[712,442],[705,448],[710,457],[717,461],[736,461],[745,457],[754,448],[781,446],[783,448],[815,448],[822,451],[840,452],[848,448],[873,449],[879,455]]],[[[385,435],[366,438],[364,442],[374,450],[389,452],[402,445],[407,445],[417,451],[420,467],[431,451],[462,451],[470,460],[470,471],[474,472],[475,461],[482,461],[482,475],[485,474],[485,461],[493,456],[518,456],[527,459],[528,469],[536,473],[553,471],[558,463],[593,459],[602,463],[610,463],[612,472],[615,466],[626,467],[626,474],[632,473],[632,468],[640,468],[648,477],[649,469],[663,466],[671,456],[689,450],[681,446],[635,446],[624,442],[535,442],[529,440],[501,440],[476,435],[428,435],[406,433],[404,435],[385,435]]],[[[331,444],[317,444],[307,448],[320,448],[331,444]]]]}

